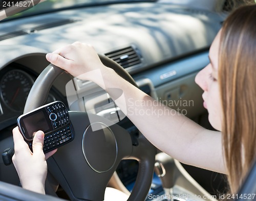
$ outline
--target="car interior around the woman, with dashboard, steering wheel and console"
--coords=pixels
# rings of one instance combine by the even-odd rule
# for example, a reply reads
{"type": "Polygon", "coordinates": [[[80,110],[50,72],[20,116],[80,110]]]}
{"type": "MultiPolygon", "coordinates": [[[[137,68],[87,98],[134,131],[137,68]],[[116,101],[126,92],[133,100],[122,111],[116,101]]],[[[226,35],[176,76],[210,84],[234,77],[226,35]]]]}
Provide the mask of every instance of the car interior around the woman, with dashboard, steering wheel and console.
{"type": "Polygon", "coordinates": [[[96,201],[104,199],[106,187],[124,192],[129,200],[168,200],[165,194],[181,201],[218,199],[227,189],[225,175],[161,152],[125,115],[119,118],[120,109],[104,90],[59,71],[45,56],[75,41],[91,44],[124,79],[214,129],[195,76],[208,64],[210,44],[228,15],[224,3],[47,0],[1,20],[1,153],[14,146],[12,129],[20,115],[53,101],[68,107],[75,138],[47,161],[47,195],[20,188],[13,164],[0,158],[0,199],[96,201]],[[104,125],[97,135],[111,133],[114,155],[100,137],[84,137],[92,121],[104,125]]]}

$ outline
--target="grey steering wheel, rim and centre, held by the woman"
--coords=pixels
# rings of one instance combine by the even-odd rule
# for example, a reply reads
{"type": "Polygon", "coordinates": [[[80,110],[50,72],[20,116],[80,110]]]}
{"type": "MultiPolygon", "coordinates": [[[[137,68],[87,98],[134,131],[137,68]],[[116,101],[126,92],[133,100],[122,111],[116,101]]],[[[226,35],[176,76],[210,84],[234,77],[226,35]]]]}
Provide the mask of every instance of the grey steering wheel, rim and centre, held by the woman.
{"type": "MultiPolygon", "coordinates": [[[[134,79],[116,62],[99,55],[102,63],[136,85],[134,79]]],[[[44,104],[53,81],[63,70],[50,64],[42,71],[29,93],[24,113],[44,104]]],[[[136,159],[139,170],[128,200],[145,200],[151,187],[156,148],[143,135],[133,143],[130,133],[109,120],[86,112],[69,111],[75,138],[48,159],[48,170],[71,200],[103,200],[105,188],[122,159],[136,159]],[[92,131],[92,124],[102,129],[92,131]]]]}

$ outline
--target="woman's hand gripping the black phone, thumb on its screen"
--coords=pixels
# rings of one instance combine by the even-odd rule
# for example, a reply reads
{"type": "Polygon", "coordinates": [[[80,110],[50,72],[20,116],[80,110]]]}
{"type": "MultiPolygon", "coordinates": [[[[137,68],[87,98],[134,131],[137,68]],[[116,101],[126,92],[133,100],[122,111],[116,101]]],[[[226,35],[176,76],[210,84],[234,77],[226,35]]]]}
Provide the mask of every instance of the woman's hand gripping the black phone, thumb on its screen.
{"type": "Polygon", "coordinates": [[[12,132],[15,149],[12,162],[18,173],[20,184],[24,189],[45,194],[44,186],[47,176],[46,160],[57,149],[44,153],[42,151],[44,132],[38,131],[33,138],[33,153],[31,153],[18,127],[15,127],[12,132]]]}

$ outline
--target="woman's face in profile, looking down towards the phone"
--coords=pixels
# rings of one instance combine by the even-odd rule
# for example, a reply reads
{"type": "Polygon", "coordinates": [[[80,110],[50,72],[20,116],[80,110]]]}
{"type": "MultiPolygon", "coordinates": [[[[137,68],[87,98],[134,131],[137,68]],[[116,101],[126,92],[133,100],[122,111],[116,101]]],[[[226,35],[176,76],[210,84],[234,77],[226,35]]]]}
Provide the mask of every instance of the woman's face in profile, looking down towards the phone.
{"type": "Polygon", "coordinates": [[[218,55],[220,46],[220,32],[211,44],[209,50],[210,63],[201,70],[196,78],[196,83],[204,91],[202,97],[204,100],[204,107],[209,113],[209,122],[217,130],[221,130],[222,111],[221,99],[218,80],[218,55]]]}

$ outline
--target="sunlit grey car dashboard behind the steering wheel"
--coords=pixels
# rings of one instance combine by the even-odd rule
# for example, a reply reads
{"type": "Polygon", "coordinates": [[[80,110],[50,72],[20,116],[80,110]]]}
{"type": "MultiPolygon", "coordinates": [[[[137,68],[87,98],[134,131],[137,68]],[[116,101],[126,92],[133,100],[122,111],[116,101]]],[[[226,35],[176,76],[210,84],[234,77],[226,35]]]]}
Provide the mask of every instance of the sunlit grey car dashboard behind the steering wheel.
{"type": "MultiPolygon", "coordinates": [[[[0,151],[13,146],[11,129],[23,114],[35,79],[49,65],[46,53],[75,41],[92,44],[98,54],[115,60],[130,73],[146,94],[197,121],[206,110],[195,75],[208,64],[209,46],[224,18],[225,15],[209,10],[138,2],[80,7],[2,21],[0,151]]],[[[71,110],[77,109],[67,100],[70,78],[69,74],[59,76],[45,103],[60,100],[71,110]]],[[[74,81],[81,93],[98,87],[89,81],[74,81]]],[[[105,107],[104,101],[104,96],[97,96],[90,97],[88,103],[95,114],[111,118],[111,108],[105,107]]],[[[122,126],[131,133],[139,132],[128,120],[122,126]]],[[[124,162],[117,170],[125,186],[136,177],[136,164],[131,163],[129,166],[124,162]]],[[[18,185],[11,166],[5,166],[0,159],[0,180],[18,185]]]]}

